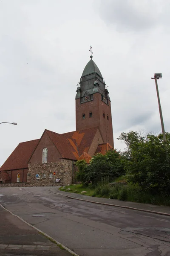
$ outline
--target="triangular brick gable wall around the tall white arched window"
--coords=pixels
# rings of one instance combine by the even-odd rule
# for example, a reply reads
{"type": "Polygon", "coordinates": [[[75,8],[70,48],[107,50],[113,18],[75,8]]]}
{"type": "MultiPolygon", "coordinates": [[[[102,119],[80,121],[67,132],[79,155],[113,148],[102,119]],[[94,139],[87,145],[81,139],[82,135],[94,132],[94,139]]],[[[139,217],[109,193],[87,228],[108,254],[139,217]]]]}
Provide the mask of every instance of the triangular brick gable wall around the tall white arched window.
{"type": "Polygon", "coordinates": [[[48,163],[55,163],[59,158],[61,158],[61,155],[59,154],[59,151],[57,148],[54,146],[52,143],[51,139],[49,138],[48,134],[44,132],[42,135],[42,138],[40,140],[40,143],[38,144],[37,148],[35,149],[31,159],[30,163],[31,164],[37,164],[37,163],[42,163],[42,150],[43,148],[48,149],[48,154],[47,154],[47,161],[48,163]]]}

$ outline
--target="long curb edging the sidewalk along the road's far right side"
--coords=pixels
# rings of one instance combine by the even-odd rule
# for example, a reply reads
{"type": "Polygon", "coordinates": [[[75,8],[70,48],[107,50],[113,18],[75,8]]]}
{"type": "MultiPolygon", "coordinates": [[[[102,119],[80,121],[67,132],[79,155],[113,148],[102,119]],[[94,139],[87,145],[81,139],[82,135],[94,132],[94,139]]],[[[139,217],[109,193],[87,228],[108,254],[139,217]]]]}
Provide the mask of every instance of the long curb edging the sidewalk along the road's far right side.
{"type": "Polygon", "coordinates": [[[100,202],[90,201],[90,200],[86,200],[86,199],[74,198],[74,197],[71,197],[69,195],[63,195],[63,194],[60,194],[60,193],[57,193],[57,192],[52,192],[49,189],[48,189],[48,192],[49,193],[54,193],[54,194],[57,194],[57,195],[62,195],[62,196],[65,196],[67,198],[76,199],[76,200],[79,200],[79,201],[85,201],[85,202],[94,203],[94,204],[103,204],[103,205],[107,205],[107,206],[120,207],[120,208],[125,208],[125,209],[130,209],[130,210],[141,211],[141,212],[148,212],[148,213],[170,216],[170,213],[165,213],[165,212],[155,212],[155,211],[150,211],[150,210],[145,210],[145,209],[134,208],[134,207],[130,207],[130,206],[123,206],[123,205],[117,205],[117,204],[106,204],[106,203],[100,203],[100,202]]]}

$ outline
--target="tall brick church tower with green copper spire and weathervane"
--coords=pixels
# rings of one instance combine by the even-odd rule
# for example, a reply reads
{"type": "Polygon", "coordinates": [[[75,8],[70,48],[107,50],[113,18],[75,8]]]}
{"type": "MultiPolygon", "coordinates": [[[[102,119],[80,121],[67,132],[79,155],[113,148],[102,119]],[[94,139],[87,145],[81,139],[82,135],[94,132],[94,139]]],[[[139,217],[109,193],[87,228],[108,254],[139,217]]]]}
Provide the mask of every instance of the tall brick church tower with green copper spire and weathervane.
{"type": "Polygon", "coordinates": [[[98,126],[104,143],[114,147],[109,92],[93,56],[90,58],[77,87],[76,131],[98,126]]]}

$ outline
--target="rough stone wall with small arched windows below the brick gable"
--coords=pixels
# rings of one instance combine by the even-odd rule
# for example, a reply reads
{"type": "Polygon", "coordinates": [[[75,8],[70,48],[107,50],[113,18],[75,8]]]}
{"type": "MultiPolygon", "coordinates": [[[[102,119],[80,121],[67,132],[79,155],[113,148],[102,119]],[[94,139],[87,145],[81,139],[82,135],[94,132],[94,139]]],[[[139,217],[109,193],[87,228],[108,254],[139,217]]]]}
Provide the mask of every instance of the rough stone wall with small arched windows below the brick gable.
{"type": "Polygon", "coordinates": [[[76,171],[72,160],[61,159],[56,163],[28,164],[28,186],[62,186],[72,184],[74,173],[76,171]],[[54,176],[53,173],[56,172],[54,176]],[[40,175],[40,179],[36,175],[40,175]],[[45,178],[42,175],[45,174],[45,178]],[[49,175],[52,174],[52,177],[49,175]],[[56,179],[60,179],[60,183],[55,183],[56,179]]]}

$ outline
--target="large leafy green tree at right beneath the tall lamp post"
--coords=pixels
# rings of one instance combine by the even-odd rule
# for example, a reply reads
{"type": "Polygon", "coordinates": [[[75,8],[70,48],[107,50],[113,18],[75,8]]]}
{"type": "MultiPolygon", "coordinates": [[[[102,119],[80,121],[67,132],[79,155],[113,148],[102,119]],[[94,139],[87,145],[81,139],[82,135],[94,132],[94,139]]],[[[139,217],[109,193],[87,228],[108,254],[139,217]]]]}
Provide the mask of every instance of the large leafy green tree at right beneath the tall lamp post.
{"type": "Polygon", "coordinates": [[[130,131],[121,133],[119,140],[124,140],[127,148],[122,152],[127,180],[139,183],[142,189],[154,193],[170,193],[170,133],[163,135],[130,131]]]}

